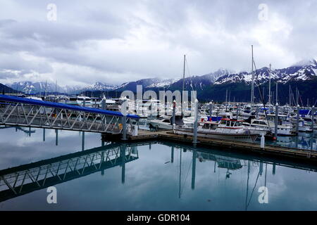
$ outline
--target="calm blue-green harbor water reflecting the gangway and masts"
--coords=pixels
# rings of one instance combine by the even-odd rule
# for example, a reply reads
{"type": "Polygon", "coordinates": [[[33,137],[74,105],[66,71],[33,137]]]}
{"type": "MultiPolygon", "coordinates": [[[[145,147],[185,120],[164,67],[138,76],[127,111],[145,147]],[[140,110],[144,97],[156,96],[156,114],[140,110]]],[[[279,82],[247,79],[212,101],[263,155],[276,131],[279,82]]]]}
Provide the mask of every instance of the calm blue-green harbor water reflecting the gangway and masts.
{"type": "MultiPolygon", "coordinates": [[[[313,167],[171,143],[118,146],[101,143],[100,135],[92,133],[85,133],[82,151],[81,133],[58,131],[57,136],[56,143],[54,130],[45,130],[44,141],[43,129],[0,129],[0,174],[11,186],[20,177],[16,194],[0,179],[0,210],[317,210],[313,167]],[[99,156],[105,159],[100,167],[99,156]],[[38,163],[3,170],[30,162],[38,163]],[[70,166],[61,166],[58,178],[54,165],[61,162],[70,166]],[[20,188],[25,169],[35,174],[33,179],[42,169],[39,184],[26,176],[20,188]],[[57,189],[57,204],[46,202],[44,174],[46,184],[57,189]],[[268,188],[268,203],[259,203],[261,186],[268,188]]],[[[277,144],[316,149],[316,138],[279,139],[277,144]]]]}

